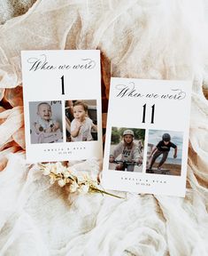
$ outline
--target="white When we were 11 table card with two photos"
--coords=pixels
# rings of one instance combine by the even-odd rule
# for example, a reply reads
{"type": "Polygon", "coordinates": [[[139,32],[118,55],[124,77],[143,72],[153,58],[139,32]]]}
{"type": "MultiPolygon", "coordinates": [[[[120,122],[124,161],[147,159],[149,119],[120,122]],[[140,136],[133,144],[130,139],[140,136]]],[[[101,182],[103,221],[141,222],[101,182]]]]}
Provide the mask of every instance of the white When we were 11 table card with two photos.
{"type": "Polygon", "coordinates": [[[104,188],[185,196],[191,82],[112,78],[104,188]]]}

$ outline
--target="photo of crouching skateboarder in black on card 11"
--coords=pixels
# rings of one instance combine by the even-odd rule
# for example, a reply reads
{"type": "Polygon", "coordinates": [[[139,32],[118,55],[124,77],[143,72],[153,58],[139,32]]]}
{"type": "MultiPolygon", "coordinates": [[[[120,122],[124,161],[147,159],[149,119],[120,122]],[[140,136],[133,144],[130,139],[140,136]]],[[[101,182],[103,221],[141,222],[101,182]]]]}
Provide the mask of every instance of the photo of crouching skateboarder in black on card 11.
{"type": "Polygon", "coordinates": [[[147,173],[181,175],[182,132],[150,130],[147,173]]]}

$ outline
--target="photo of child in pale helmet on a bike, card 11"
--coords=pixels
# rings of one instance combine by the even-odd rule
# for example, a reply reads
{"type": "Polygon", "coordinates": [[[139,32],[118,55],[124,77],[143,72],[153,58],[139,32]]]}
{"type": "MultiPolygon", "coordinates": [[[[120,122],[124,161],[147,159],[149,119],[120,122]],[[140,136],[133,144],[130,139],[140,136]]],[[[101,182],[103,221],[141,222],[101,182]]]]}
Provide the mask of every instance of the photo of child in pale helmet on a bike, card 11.
{"type": "Polygon", "coordinates": [[[143,172],[144,137],[144,129],[112,127],[109,169],[143,172]]]}

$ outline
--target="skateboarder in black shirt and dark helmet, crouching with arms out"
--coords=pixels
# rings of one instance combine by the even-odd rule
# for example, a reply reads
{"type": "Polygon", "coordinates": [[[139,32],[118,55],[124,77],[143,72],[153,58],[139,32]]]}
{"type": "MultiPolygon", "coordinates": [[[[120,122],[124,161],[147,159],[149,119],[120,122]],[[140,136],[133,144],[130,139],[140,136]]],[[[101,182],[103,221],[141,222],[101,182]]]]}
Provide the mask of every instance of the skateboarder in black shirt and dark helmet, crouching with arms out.
{"type": "Polygon", "coordinates": [[[158,142],[158,145],[152,149],[150,152],[150,167],[148,168],[150,172],[153,164],[155,164],[158,156],[162,155],[160,162],[158,163],[158,170],[161,170],[162,165],[166,162],[166,158],[170,152],[170,149],[174,148],[173,158],[177,157],[177,146],[171,141],[171,135],[169,133],[164,133],[162,136],[162,140],[158,142]]]}

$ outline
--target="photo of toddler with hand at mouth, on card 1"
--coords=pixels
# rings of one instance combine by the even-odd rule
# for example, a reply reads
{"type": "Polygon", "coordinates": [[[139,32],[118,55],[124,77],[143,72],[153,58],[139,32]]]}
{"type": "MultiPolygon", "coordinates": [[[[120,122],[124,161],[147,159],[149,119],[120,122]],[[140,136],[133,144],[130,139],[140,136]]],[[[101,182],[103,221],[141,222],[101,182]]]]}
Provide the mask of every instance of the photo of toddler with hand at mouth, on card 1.
{"type": "Polygon", "coordinates": [[[67,142],[97,140],[96,100],[65,100],[67,142]]]}

